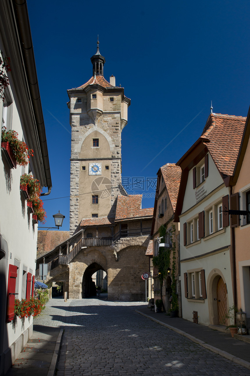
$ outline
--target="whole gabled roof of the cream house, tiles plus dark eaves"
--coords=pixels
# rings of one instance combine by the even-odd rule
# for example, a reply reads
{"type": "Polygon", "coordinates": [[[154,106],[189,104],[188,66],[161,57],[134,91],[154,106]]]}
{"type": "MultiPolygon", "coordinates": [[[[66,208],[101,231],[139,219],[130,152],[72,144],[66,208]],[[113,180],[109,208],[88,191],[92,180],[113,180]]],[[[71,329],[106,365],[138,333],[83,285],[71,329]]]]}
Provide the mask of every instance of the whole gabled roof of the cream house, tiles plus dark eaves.
{"type": "Polygon", "coordinates": [[[181,157],[177,165],[181,166],[181,183],[175,211],[175,221],[179,221],[186,191],[189,170],[193,168],[207,152],[210,153],[226,186],[234,173],[246,117],[211,113],[202,131],[201,137],[181,157]]]}

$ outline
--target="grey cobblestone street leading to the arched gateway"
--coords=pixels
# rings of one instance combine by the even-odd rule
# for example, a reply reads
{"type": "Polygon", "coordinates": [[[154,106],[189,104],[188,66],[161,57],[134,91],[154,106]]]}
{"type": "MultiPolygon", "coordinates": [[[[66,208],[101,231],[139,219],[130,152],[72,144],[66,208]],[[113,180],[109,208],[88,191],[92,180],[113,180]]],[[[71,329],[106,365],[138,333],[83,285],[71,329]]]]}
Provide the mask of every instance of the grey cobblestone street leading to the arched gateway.
{"type": "Polygon", "coordinates": [[[66,326],[57,376],[250,376],[250,370],[137,314],[142,305],[82,299],[58,307],[65,310],[66,326]]]}

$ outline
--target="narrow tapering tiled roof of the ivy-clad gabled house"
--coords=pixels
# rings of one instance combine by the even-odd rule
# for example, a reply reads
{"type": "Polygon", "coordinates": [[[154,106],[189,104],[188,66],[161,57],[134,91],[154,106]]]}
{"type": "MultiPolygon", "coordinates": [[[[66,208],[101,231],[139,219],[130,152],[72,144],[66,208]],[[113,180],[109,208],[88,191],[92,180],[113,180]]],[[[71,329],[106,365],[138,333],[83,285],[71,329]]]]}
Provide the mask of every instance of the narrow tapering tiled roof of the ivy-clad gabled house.
{"type": "Polygon", "coordinates": [[[181,182],[181,167],[177,166],[174,163],[167,163],[162,166],[160,170],[162,171],[162,176],[166,183],[169,198],[175,211],[179,186],[181,182]]]}

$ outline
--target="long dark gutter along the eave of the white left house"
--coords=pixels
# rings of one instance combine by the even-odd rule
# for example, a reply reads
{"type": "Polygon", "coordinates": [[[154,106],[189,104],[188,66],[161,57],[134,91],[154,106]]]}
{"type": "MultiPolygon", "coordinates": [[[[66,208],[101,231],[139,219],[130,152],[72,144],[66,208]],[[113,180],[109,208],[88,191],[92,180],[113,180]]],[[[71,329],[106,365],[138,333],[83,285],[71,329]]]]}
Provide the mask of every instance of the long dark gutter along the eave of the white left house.
{"type": "Polygon", "coordinates": [[[30,22],[28,18],[27,2],[26,0],[13,0],[12,4],[16,14],[17,27],[19,29],[21,42],[20,45],[25,64],[25,73],[27,74],[27,84],[30,91],[31,103],[33,106],[35,123],[37,126],[37,133],[40,143],[46,186],[48,187],[48,192],[42,193],[40,196],[46,196],[51,192],[52,182],[49,168],[49,156],[46,141],[45,124],[43,119],[42,104],[37,80],[34,50],[30,32],[30,22]]]}

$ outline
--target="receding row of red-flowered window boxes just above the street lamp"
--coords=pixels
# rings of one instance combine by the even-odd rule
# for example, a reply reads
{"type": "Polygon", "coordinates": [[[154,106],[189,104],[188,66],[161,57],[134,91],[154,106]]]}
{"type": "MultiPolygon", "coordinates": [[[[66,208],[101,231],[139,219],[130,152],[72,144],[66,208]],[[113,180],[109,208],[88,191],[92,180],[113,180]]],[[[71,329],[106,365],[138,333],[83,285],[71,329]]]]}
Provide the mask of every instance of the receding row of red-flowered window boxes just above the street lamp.
{"type": "Polygon", "coordinates": [[[24,174],[20,178],[20,184],[25,185],[28,190],[28,194],[30,198],[27,201],[27,207],[29,211],[31,212],[31,209],[33,209],[33,216],[32,219],[35,223],[38,223],[40,221],[41,223],[45,223],[46,220],[46,212],[43,209],[43,202],[40,199],[40,183],[37,179],[34,179],[32,175],[24,174]]]}

